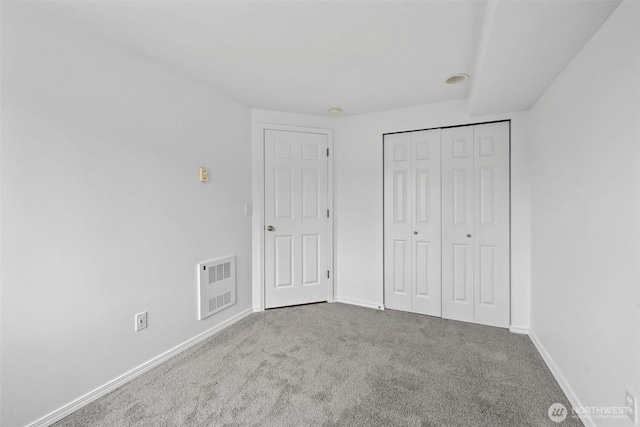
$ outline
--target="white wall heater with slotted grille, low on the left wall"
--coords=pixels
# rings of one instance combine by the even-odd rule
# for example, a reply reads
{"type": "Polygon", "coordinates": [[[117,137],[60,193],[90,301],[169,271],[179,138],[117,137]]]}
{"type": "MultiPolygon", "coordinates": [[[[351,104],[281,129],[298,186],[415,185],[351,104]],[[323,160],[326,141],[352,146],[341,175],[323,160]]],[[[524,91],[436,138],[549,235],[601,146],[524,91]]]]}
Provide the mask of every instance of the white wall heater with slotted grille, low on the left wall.
{"type": "Polygon", "coordinates": [[[200,320],[236,303],[236,257],[198,264],[198,318],[200,320]]]}

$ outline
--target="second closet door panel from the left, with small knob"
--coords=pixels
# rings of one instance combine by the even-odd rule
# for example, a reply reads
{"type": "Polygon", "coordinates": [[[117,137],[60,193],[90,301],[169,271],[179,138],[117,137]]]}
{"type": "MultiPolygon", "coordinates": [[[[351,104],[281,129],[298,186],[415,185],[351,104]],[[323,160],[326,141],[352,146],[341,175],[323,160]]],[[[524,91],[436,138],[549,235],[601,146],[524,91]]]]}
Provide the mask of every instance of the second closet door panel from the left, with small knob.
{"type": "Polygon", "coordinates": [[[440,129],[412,132],[411,311],[441,316],[440,129]]]}

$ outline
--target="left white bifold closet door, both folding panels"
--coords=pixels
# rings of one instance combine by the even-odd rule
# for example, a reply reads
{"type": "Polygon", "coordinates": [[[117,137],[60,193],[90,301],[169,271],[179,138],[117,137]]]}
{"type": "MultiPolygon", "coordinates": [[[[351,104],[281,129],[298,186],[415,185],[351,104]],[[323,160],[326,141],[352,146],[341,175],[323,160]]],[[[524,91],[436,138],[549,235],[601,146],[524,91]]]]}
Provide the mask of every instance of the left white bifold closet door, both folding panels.
{"type": "Polygon", "coordinates": [[[440,129],[385,135],[385,306],[441,315],[440,129]]]}

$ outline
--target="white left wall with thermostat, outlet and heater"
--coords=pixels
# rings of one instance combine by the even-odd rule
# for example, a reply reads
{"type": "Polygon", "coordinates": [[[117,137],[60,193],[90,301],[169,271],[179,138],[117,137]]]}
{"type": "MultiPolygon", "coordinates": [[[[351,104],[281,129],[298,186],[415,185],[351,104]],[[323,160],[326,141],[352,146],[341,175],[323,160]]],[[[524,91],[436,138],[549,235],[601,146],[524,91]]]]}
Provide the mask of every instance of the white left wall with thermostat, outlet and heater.
{"type": "Polygon", "coordinates": [[[0,424],[11,427],[251,307],[251,116],[24,2],[2,4],[1,77],[0,424]],[[238,302],[199,321],[196,264],[229,254],[238,302]]]}

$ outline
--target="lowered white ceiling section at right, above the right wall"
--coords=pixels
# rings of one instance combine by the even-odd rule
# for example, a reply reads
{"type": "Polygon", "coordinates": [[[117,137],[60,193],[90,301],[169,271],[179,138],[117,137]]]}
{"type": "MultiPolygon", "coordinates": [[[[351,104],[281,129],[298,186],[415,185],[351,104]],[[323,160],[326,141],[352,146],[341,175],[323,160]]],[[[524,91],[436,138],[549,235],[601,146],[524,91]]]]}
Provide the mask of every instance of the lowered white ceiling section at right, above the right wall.
{"type": "Polygon", "coordinates": [[[528,110],[620,2],[500,1],[487,8],[474,114],[528,110]]]}

